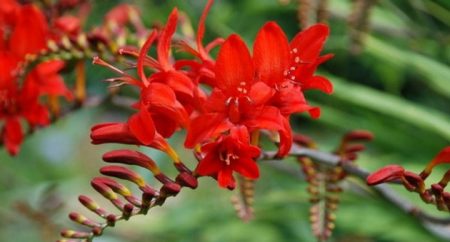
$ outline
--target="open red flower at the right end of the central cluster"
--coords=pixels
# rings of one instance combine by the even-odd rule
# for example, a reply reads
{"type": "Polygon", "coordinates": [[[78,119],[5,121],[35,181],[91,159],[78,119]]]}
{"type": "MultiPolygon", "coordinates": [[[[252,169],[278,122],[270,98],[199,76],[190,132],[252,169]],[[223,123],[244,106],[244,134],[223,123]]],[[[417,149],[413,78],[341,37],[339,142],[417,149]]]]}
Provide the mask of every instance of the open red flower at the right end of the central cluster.
{"type": "Polygon", "coordinates": [[[318,108],[307,104],[303,91],[316,88],[332,92],[327,79],[313,76],[317,66],[332,57],[318,57],[328,32],[326,25],[316,24],[297,34],[289,44],[275,22],[265,24],[259,31],[253,48],[256,76],[278,90],[271,103],[283,115],[309,111],[313,117],[319,116],[318,108]]]}

